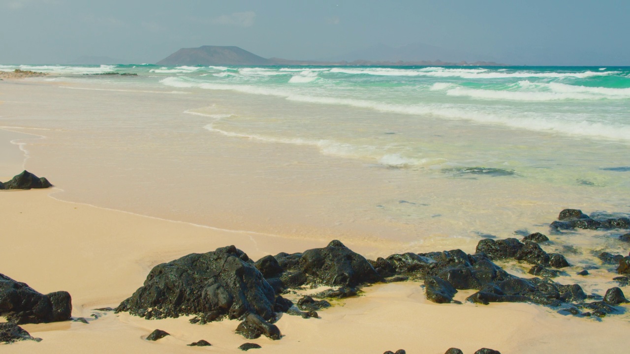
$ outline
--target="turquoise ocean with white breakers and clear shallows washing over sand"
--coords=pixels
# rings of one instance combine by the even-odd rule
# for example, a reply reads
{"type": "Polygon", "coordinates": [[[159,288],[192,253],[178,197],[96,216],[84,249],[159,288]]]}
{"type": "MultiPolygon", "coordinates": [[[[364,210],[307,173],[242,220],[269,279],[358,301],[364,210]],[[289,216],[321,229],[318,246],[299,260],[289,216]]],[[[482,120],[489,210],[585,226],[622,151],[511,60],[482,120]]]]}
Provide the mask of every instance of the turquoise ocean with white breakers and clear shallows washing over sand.
{"type": "Polygon", "coordinates": [[[45,129],[26,166],[65,200],[416,252],[630,212],[630,67],[14,69],[54,94],[0,125],[45,129]]]}

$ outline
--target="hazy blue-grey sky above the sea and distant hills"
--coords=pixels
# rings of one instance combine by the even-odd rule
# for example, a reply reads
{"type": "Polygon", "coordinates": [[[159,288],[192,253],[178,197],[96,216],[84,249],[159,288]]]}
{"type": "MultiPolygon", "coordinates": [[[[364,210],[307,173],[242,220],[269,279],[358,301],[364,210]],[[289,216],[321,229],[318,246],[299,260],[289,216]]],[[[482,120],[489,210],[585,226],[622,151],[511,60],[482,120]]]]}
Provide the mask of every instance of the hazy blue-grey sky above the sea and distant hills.
{"type": "Polygon", "coordinates": [[[152,63],[200,45],[322,59],[421,42],[509,64],[630,65],[628,16],[628,0],[0,0],[0,63],[152,63]]]}

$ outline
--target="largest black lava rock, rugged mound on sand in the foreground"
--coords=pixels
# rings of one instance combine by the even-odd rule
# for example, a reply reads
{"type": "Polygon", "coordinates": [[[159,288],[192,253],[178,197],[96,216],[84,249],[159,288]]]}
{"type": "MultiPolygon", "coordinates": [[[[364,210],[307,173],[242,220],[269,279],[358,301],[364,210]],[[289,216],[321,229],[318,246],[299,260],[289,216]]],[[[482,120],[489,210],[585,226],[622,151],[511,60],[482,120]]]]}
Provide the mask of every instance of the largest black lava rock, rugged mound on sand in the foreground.
{"type": "Polygon", "coordinates": [[[248,312],[272,319],[275,292],[250,262],[243,251],[228,246],[157,265],[116,311],[146,319],[190,314],[236,319],[248,312]]]}

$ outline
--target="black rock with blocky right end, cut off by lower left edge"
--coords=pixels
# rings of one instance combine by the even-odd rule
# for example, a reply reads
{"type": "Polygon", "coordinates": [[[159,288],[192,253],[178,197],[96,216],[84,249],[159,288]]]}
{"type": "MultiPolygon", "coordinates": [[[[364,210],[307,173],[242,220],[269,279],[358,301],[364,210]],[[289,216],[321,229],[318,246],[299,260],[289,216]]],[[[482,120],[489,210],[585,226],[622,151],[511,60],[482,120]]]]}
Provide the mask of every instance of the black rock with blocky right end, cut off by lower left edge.
{"type": "Polygon", "coordinates": [[[67,321],[71,319],[72,299],[65,291],[40,294],[0,274],[0,313],[17,324],[67,321]]]}

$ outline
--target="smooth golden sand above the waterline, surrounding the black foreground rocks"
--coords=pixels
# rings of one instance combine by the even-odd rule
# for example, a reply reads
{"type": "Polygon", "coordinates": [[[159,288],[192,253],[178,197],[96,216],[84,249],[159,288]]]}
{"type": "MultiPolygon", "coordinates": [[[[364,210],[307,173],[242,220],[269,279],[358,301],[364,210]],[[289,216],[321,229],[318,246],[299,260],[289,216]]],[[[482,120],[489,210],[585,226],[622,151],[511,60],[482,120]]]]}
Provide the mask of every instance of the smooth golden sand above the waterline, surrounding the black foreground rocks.
{"type": "MultiPolygon", "coordinates": [[[[0,176],[6,180],[23,165],[18,146],[7,141],[23,134],[0,132],[0,176]]],[[[321,319],[283,315],[277,322],[284,334],[280,341],[246,340],[234,333],[236,321],[196,325],[184,317],[151,321],[112,312],[96,312],[102,317],[93,319],[92,309],[120,303],[158,263],[229,244],[258,259],[322,247],[329,240],[224,231],[54,197],[54,189],[0,193],[0,272],[42,293],[67,290],[72,316],[88,317],[90,323],[25,325],[43,341],[3,345],[3,353],[237,353],[245,342],[263,346],[256,353],[380,354],[404,348],[410,354],[438,354],[452,346],[464,353],[482,347],[504,354],[627,353],[630,323],[624,317],[575,318],[531,304],[433,304],[415,282],[364,288],[361,297],[321,311],[321,319]],[[171,336],[144,340],[156,328],[171,336]],[[186,346],[201,339],[212,346],[186,346]]],[[[364,254],[376,251],[373,244],[347,246],[364,254]]],[[[457,299],[467,294],[460,292],[457,299]]]]}

